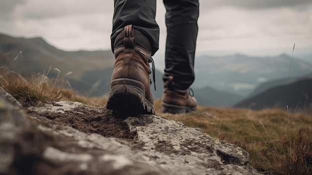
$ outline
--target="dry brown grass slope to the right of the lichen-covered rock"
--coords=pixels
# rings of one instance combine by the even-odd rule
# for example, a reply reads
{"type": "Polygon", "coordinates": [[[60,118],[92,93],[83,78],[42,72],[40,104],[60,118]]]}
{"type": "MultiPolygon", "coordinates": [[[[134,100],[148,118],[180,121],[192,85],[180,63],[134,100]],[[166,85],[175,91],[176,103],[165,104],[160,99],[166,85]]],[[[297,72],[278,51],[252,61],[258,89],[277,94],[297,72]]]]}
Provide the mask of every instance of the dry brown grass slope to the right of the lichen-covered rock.
{"type": "Polygon", "coordinates": [[[252,167],[263,174],[311,174],[311,113],[287,113],[286,107],[285,110],[261,111],[198,107],[198,111],[211,115],[173,115],[160,113],[160,100],[156,101],[155,107],[160,116],[181,121],[188,127],[201,128],[212,137],[242,147],[250,154],[252,167]]]}

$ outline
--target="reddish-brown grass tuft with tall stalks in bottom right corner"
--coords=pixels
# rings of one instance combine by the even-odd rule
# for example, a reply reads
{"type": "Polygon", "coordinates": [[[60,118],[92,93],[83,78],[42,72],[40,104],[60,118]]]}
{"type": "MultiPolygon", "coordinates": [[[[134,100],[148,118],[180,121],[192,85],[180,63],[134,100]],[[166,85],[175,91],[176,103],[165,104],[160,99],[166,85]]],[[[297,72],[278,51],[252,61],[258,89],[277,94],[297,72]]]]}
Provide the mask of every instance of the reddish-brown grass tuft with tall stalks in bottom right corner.
{"type": "MultiPolygon", "coordinates": [[[[267,159],[269,160],[271,167],[267,168],[267,174],[270,175],[312,175],[312,141],[311,128],[299,128],[298,136],[291,137],[291,125],[289,119],[289,112],[287,111],[288,117],[288,135],[283,136],[284,140],[280,140],[280,143],[274,143],[271,139],[267,129],[261,123],[263,130],[266,132],[269,141],[263,139],[259,130],[252,124],[259,137],[266,145],[266,149],[269,151],[265,152],[267,159]],[[293,140],[294,139],[294,140],[293,140]],[[292,142],[293,140],[293,142],[292,142]],[[269,144],[272,143],[272,144],[269,144]],[[277,150],[277,146],[282,149],[277,150]]],[[[305,122],[305,117],[303,122],[305,122]]]]}

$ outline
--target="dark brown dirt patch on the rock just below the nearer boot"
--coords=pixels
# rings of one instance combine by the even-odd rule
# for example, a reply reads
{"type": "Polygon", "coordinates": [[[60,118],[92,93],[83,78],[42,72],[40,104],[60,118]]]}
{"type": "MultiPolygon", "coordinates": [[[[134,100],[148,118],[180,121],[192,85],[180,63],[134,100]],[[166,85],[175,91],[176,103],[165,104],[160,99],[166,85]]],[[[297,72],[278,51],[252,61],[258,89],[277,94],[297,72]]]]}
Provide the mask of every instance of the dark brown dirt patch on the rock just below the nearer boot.
{"type": "Polygon", "coordinates": [[[86,108],[75,108],[63,113],[45,112],[35,114],[28,111],[31,115],[39,120],[49,119],[45,123],[70,126],[86,134],[100,134],[104,137],[115,137],[123,139],[135,139],[137,133],[130,132],[128,125],[124,122],[125,116],[114,113],[103,107],[101,110],[92,110],[86,108]]]}

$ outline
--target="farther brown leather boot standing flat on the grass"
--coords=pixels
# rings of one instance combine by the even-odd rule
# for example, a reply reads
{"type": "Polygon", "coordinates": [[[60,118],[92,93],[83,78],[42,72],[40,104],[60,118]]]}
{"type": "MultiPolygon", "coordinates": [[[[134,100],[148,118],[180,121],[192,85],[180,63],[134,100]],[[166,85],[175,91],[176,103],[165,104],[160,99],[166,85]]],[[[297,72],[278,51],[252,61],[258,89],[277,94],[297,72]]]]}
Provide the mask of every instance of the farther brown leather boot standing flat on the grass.
{"type": "Polygon", "coordinates": [[[187,89],[180,90],[174,86],[173,76],[164,82],[164,90],[161,99],[161,112],[180,114],[195,111],[197,109],[196,99],[188,94],[187,89]]]}

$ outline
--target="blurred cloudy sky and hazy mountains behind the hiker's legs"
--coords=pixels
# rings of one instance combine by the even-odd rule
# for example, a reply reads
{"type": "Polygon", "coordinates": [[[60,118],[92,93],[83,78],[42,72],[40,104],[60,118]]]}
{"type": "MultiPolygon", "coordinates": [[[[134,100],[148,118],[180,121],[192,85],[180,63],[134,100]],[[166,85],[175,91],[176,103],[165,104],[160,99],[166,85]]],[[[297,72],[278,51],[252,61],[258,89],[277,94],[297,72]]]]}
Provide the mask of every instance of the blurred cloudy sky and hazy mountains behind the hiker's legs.
{"type": "MultiPolygon", "coordinates": [[[[107,94],[114,64],[113,6],[101,0],[1,1],[0,66],[28,76],[46,74],[51,66],[47,76],[55,78],[59,70],[73,90],[107,94]]],[[[162,95],[164,13],[157,0],[156,99],[162,95]]],[[[311,1],[200,1],[198,25],[192,89],[200,105],[311,106],[311,1]]]]}

